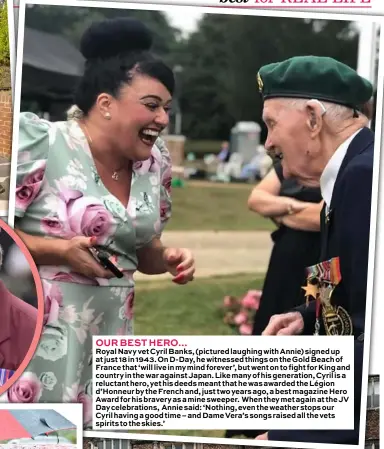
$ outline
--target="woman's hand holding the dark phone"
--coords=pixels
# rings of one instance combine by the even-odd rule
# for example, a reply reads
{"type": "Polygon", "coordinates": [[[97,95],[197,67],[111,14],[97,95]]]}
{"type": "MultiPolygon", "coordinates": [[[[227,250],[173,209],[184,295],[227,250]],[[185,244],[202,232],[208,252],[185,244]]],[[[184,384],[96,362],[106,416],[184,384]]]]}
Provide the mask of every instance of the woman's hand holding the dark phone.
{"type": "Polygon", "coordinates": [[[70,240],[61,240],[61,254],[64,261],[71,266],[73,271],[90,278],[115,277],[109,270],[103,268],[92,256],[89,249],[96,243],[91,237],[73,237],[70,240]]]}

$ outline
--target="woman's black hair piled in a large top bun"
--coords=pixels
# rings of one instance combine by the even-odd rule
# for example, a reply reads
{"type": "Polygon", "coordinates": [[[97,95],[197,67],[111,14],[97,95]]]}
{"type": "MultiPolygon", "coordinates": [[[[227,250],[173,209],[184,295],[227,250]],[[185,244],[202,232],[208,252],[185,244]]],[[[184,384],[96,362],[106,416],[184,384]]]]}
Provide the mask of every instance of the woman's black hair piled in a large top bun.
{"type": "Polygon", "coordinates": [[[80,43],[85,70],[75,93],[83,114],[88,114],[100,93],[117,97],[135,74],[160,81],[173,94],[173,72],[150,52],[151,45],[149,29],[129,17],[96,22],[85,31],[80,43]]]}

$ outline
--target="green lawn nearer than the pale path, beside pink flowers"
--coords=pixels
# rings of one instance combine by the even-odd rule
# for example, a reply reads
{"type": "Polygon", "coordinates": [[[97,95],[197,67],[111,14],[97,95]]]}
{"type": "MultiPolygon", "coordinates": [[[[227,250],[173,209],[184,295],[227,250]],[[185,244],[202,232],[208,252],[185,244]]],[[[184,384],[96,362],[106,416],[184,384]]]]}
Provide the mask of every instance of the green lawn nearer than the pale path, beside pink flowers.
{"type": "MultiPolygon", "coordinates": [[[[249,274],[199,279],[184,286],[138,281],[135,335],[234,335],[235,331],[223,323],[223,297],[260,289],[262,281],[249,274]]],[[[143,429],[139,433],[224,438],[225,431],[143,429]]]]}

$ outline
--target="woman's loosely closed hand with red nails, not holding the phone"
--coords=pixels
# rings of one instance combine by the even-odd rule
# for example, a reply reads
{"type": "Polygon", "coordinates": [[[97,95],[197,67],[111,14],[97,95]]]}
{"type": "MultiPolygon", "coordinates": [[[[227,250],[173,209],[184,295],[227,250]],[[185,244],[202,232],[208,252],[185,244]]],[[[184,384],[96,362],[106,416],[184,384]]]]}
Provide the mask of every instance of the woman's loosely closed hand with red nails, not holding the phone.
{"type": "Polygon", "coordinates": [[[176,284],[186,284],[193,280],[195,260],[192,252],[187,248],[165,248],[163,259],[166,269],[175,276],[172,281],[176,284]]]}

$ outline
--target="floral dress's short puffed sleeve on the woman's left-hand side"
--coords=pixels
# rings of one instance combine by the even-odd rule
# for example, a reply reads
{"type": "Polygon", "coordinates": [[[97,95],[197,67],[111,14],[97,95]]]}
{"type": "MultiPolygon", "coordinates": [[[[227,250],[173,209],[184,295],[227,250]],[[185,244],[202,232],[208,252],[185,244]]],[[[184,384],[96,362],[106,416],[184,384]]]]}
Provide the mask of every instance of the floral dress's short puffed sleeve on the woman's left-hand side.
{"type": "Polygon", "coordinates": [[[38,196],[49,151],[50,123],[30,112],[20,114],[15,215],[23,217],[38,196]]]}

